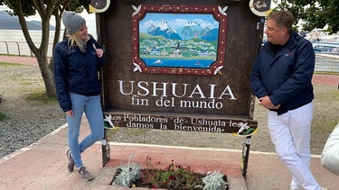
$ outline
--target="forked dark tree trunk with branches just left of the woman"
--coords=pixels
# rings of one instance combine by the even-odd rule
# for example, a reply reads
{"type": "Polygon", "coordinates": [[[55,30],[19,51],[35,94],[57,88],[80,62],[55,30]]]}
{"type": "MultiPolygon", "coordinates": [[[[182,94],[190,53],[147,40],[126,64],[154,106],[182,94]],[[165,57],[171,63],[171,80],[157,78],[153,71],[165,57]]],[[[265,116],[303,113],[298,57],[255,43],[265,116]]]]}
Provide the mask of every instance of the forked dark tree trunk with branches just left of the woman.
{"type": "MultiPolygon", "coordinates": [[[[1,1],[3,2],[3,1],[1,1]]],[[[14,1],[5,1],[5,5],[8,5],[11,9],[14,9],[14,14],[17,14],[19,18],[19,23],[21,25],[22,31],[24,33],[24,39],[26,40],[30,50],[32,50],[36,59],[38,60],[39,68],[42,73],[42,79],[44,86],[46,88],[47,95],[49,97],[56,95],[55,83],[54,83],[54,73],[53,73],[53,59],[49,60],[47,57],[48,45],[50,40],[50,19],[53,15],[55,17],[56,29],[53,40],[52,50],[54,50],[55,45],[59,42],[60,33],[61,33],[61,14],[63,11],[68,8],[70,4],[73,4],[74,7],[78,7],[78,11],[82,11],[83,6],[88,7],[89,2],[78,2],[72,0],[14,0],[14,1]],[[24,5],[24,6],[23,6],[24,5]],[[40,47],[37,48],[32,41],[30,32],[27,28],[27,23],[24,19],[24,16],[33,15],[33,12],[40,14],[42,19],[42,41],[40,47]],[[50,62],[50,64],[49,64],[50,62]]],[[[53,56],[53,53],[52,53],[53,56]]],[[[53,57],[52,57],[53,58],[53,57]]]]}

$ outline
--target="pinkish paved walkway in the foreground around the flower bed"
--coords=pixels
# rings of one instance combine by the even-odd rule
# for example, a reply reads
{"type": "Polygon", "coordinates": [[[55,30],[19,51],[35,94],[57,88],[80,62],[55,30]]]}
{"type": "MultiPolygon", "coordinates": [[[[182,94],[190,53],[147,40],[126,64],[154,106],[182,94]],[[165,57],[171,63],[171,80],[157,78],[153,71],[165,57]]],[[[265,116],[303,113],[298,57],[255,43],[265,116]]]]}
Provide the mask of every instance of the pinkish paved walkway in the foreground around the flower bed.
{"type": "MultiPolygon", "coordinates": [[[[85,119],[80,139],[89,132],[85,119]]],[[[168,166],[171,160],[196,172],[220,170],[230,183],[230,190],[285,190],[290,176],[274,153],[250,152],[246,179],[241,176],[241,151],[236,149],[197,149],[156,145],[111,143],[111,160],[102,167],[101,145],[96,143],[83,153],[85,166],[96,176],[89,182],[82,181],[78,173],[69,173],[66,167],[67,126],[52,132],[32,146],[0,159],[0,189],[117,189],[111,186],[115,167],[121,160],[132,156],[132,161],[145,163],[146,156],[168,166]]],[[[330,190],[339,186],[338,176],[320,165],[320,157],[313,156],[311,169],[317,181],[330,190]]]]}

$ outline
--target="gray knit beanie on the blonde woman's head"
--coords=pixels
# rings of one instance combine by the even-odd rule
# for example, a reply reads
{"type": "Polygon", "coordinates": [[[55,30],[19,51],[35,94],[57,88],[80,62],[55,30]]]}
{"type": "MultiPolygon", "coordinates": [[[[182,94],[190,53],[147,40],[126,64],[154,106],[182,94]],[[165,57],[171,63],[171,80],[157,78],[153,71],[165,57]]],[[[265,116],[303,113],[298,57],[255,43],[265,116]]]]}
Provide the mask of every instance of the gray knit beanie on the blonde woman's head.
{"type": "Polygon", "coordinates": [[[84,18],[80,14],[76,14],[71,11],[65,11],[61,15],[62,23],[65,25],[67,32],[71,35],[80,30],[80,28],[86,24],[84,18]]]}

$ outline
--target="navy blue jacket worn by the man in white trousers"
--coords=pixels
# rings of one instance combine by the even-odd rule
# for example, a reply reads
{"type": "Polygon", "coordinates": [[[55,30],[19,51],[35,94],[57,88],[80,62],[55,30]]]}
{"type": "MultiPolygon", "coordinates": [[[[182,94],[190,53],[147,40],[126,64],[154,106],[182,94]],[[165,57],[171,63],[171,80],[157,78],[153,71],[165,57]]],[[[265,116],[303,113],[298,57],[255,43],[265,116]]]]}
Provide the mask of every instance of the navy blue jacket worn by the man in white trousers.
{"type": "Polygon", "coordinates": [[[269,95],[273,104],[280,104],[275,110],[278,114],[287,113],[314,99],[314,69],[312,43],[292,32],[287,46],[276,55],[270,42],[261,47],[250,74],[250,88],[258,98],[269,95]]]}

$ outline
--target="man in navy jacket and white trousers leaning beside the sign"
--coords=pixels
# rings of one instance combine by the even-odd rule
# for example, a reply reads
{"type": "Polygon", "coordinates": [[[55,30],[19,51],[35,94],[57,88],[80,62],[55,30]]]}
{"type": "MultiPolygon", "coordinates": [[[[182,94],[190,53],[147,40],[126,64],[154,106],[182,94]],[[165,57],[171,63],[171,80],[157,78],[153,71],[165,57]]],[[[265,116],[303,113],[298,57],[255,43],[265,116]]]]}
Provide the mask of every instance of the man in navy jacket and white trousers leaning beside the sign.
{"type": "Polygon", "coordinates": [[[292,174],[291,190],[325,190],[309,169],[314,98],[312,44],[292,31],[293,15],[268,15],[268,37],[255,60],[250,87],[267,108],[268,131],[278,157],[292,174]]]}

